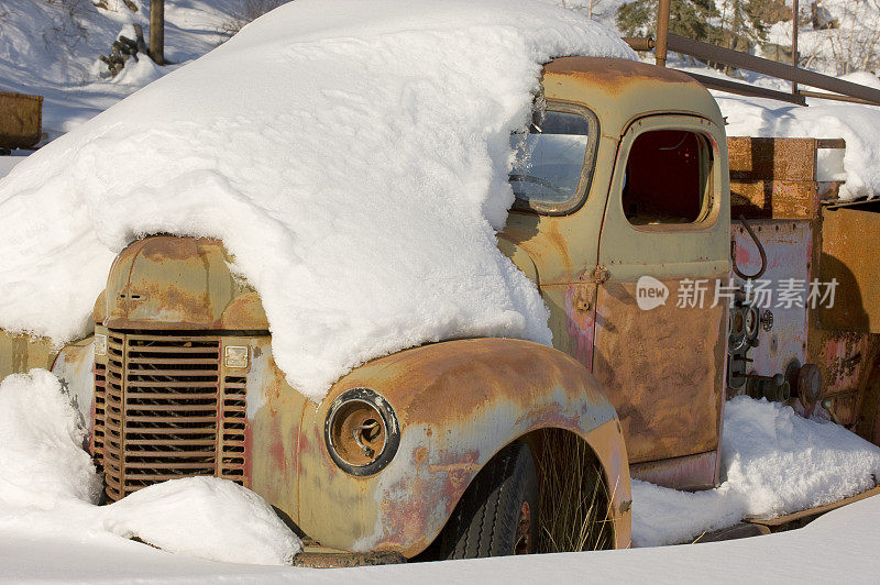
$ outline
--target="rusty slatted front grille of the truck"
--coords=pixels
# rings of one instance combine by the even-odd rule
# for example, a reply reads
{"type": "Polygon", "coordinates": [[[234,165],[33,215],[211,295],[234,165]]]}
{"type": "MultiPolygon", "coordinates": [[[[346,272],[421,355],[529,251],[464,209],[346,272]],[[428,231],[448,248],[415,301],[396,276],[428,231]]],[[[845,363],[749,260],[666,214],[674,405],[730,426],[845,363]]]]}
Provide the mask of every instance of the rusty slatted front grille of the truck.
{"type": "Polygon", "coordinates": [[[94,453],[108,497],[194,475],[243,485],[246,378],[223,376],[220,339],[109,331],[107,341],[94,453]]]}

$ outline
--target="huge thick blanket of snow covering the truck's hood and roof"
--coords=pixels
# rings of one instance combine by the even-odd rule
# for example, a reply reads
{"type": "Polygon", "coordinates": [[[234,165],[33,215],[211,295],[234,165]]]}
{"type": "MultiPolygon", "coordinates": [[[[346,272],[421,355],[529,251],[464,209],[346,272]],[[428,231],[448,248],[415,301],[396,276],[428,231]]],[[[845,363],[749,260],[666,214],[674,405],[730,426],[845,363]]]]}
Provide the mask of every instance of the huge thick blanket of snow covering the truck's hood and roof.
{"type": "Polygon", "coordinates": [[[85,333],[113,256],[170,232],[223,240],[275,361],[312,399],[425,342],[549,343],[495,230],[513,202],[510,132],[541,64],[568,54],[635,55],[526,0],[283,5],[0,181],[0,327],[85,333]]]}

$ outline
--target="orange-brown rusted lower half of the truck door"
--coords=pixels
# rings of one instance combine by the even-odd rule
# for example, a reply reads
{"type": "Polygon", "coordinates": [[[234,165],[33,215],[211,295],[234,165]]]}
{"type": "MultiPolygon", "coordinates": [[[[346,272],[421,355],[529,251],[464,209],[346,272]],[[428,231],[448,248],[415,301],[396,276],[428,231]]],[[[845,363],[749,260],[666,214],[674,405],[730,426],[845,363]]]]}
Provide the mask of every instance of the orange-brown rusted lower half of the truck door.
{"type": "MultiPolygon", "coordinates": [[[[666,280],[671,290],[678,283],[666,280]]],[[[600,287],[593,369],[620,417],[630,463],[718,446],[726,306],[650,311],[636,283],[600,287]]],[[[700,483],[710,484],[714,468],[700,483]]]]}

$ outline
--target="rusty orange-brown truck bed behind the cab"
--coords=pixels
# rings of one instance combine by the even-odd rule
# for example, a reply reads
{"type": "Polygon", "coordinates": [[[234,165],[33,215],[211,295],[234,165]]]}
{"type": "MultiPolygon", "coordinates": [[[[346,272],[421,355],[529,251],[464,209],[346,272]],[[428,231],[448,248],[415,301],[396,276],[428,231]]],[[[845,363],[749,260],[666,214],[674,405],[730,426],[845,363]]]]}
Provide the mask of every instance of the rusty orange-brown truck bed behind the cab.
{"type": "MultiPolygon", "coordinates": [[[[842,140],[730,137],[728,146],[736,264],[747,274],[761,265],[741,216],[767,256],[759,280],[790,292],[780,299],[778,286],[777,298],[762,296],[746,373],[782,374],[806,415],[877,443],[880,200],[837,198],[846,178],[842,140]]],[[[749,386],[760,395],[761,384],[749,386]]]]}

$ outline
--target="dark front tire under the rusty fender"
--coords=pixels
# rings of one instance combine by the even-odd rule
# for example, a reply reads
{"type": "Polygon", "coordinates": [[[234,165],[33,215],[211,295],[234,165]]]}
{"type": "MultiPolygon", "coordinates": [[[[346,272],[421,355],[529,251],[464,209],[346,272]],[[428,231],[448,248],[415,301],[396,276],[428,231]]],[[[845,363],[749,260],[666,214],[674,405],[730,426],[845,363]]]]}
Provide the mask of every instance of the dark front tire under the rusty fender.
{"type": "Polygon", "coordinates": [[[512,443],[496,454],[462,496],[437,538],[437,559],[527,554],[537,549],[538,475],[531,451],[512,443]]]}

